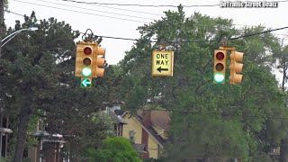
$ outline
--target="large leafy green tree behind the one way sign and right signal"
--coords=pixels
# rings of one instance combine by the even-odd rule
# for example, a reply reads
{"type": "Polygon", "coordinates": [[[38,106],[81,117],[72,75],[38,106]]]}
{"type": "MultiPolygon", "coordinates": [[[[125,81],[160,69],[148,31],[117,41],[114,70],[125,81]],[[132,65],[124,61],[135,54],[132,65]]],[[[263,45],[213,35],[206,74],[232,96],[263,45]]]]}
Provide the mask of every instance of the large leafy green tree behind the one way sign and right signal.
{"type": "Polygon", "coordinates": [[[251,161],[266,151],[258,140],[259,132],[267,119],[287,115],[284,95],[270,72],[271,53],[278,45],[275,36],[265,33],[229,40],[229,47],[245,53],[244,81],[229,85],[226,79],[226,85],[213,85],[211,79],[213,50],[221,45],[215,40],[221,35],[237,37],[259,31],[265,27],[235,29],[232,20],[198,13],[185,18],[182,6],[178,12],[166,12],[162,20],[139,27],[140,39],[121,61],[122,97],[130,111],[149,103],[172,112],[173,148],[167,154],[173,161],[193,157],[251,161]],[[174,50],[173,77],[150,76],[150,54],[159,46],[152,39],[174,50]]]}

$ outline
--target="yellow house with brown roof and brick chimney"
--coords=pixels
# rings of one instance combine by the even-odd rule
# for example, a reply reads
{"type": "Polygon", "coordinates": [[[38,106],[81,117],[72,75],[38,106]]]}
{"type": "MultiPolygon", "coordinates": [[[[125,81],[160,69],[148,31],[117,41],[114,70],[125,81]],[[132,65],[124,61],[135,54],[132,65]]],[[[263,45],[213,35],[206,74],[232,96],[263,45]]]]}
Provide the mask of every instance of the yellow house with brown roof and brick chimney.
{"type": "Polygon", "coordinates": [[[123,125],[122,137],[133,141],[138,148],[144,148],[143,158],[159,158],[164,154],[164,144],[169,130],[169,113],[166,111],[138,111],[136,116],[130,112],[121,115],[128,124],[123,125]]]}

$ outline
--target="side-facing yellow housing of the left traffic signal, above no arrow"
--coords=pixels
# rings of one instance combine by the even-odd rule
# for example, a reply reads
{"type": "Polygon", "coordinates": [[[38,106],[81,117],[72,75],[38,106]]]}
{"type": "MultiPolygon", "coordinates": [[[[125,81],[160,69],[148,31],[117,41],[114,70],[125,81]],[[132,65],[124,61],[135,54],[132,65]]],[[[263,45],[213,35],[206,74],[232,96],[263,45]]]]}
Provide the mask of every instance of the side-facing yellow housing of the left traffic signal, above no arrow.
{"type": "Polygon", "coordinates": [[[102,47],[96,46],[94,53],[93,53],[93,58],[94,58],[94,63],[93,63],[93,77],[103,77],[104,76],[104,65],[105,65],[105,50],[102,47]]]}

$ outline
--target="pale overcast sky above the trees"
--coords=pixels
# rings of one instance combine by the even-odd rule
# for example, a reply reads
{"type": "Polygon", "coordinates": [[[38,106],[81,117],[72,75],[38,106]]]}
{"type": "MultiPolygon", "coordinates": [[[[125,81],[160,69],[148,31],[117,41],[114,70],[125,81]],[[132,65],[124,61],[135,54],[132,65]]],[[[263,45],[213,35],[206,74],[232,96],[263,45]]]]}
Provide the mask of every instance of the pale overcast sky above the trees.
{"type": "MultiPolygon", "coordinates": [[[[114,4],[142,4],[142,5],[210,5],[220,4],[216,0],[75,0],[82,2],[94,2],[101,4],[79,4],[63,0],[8,0],[12,13],[5,13],[4,19],[7,26],[14,26],[16,20],[23,22],[23,17],[17,14],[30,15],[35,11],[38,19],[55,17],[58,21],[65,21],[73,30],[85,32],[91,29],[95,35],[139,39],[139,31],[136,29],[144,23],[158,20],[167,10],[176,10],[176,7],[145,7],[122,6],[114,4]],[[109,5],[103,5],[103,3],[109,5]],[[74,11],[74,12],[73,12],[74,11]]],[[[227,2],[227,1],[224,1],[227,2]]],[[[238,1],[246,2],[246,1],[238,1]]],[[[259,1],[254,1],[259,2],[259,1]]],[[[275,1],[266,1],[275,2],[275,1]]],[[[279,2],[276,8],[221,8],[218,6],[184,7],[186,16],[194,12],[207,14],[211,17],[221,16],[233,19],[237,27],[243,25],[263,24],[266,27],[281,28],[288,26],[288,1],[279,2]]],[[[288,38],[288,31],[275,31],[277,36],[288,38]],[[286,34],[279,35],[279,34],[286,34]]],[[[16,39],[16,38],[15,38],[16,39]]],[[[116,64],[125,56],[125,51],[133,45],[131,40],[116,40],[104,38],[102,46],[106,48],[106,60],[108,64],[116,64]]]]}

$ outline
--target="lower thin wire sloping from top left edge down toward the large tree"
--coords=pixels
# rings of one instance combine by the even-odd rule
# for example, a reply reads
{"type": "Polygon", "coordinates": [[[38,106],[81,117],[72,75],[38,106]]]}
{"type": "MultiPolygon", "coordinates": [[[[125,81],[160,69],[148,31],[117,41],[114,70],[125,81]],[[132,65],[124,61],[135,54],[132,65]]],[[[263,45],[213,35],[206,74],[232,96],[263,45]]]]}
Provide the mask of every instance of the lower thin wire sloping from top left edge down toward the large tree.
{"type": "MultiPolygon", "coordinates": [[[[23,3],[23,4],[33,4],[33,3],[29,3],[29,2],[23,2],[23,1],[20,1],[20,0],[14,0],[14,1],[15,2],[20,2],[20,3],[23,3]]],[[[54,8],[54,9],[63,10],[63,11],[69,11],[69,12],[74,12],[74,13],[80,13],[80,14],[91,14],[91,15],[95,15],[95,16],[107,17],[107,18],[112,18],[112,19],[130,21],[130,22],[147,23],[147,22],[141,22],[141,21],[137,21],[137,20],[125,19],[125,18],[120,18],[120,17],[115,17],[115,16],[108,16],[108,15],[103,15],[103,14],[92,14],[92,13],[80,12],[80,11],[76,11],[76,10],[70,10],[70,9],[66,9],[66,8],[59,8],[59,7],[54,7],[54,6],[44,5],[44,4],[33,4],[33,5],[45,6],[45,7],[49,7],[49,8],[54,8]]]]}

